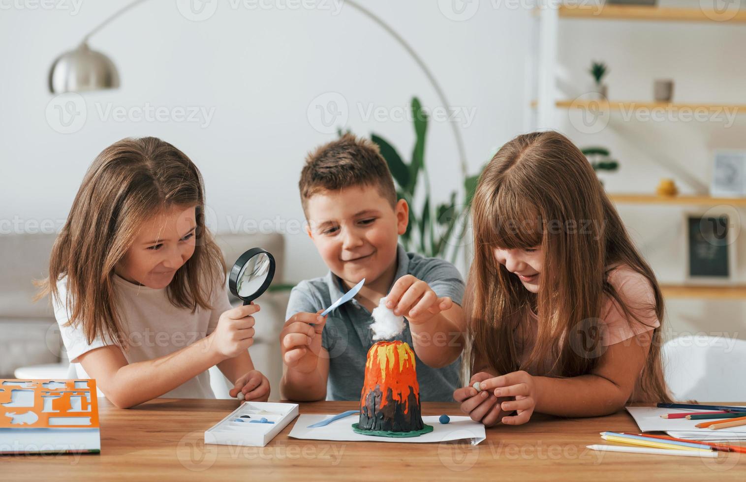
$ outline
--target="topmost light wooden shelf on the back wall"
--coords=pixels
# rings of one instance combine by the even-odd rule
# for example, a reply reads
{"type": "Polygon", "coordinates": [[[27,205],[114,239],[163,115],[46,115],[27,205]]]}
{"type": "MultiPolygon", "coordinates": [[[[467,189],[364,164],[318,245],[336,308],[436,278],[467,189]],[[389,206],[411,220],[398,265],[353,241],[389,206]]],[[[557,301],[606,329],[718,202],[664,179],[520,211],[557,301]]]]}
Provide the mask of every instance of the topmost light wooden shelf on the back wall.
{"type": "Polygon", "coordinates": [[[648,20],[653,22],[746,23],[746,10],[717,13],[700,8],[645,7],[641,5],[565,5],[560,7],[564,19],[648,20]],[[727,17],[733,15],[733,18],[727,17]]]}

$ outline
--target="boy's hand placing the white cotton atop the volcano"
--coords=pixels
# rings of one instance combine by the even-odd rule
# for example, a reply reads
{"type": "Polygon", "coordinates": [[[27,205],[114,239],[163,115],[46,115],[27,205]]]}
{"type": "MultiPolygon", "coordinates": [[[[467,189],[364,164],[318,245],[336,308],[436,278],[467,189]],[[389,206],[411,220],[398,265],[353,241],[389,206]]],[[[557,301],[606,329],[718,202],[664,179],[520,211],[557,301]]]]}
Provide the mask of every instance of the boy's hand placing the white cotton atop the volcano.
{"type": "Polygon", "coordinates": [[[427,283],[413,275],[399,278],[386,295],[386,307],[394,310],[396,316],[404,316],[415,325],[429,322],[433,316],[450,310],[453,305],[451,298],[438,298],[427,283]]]}

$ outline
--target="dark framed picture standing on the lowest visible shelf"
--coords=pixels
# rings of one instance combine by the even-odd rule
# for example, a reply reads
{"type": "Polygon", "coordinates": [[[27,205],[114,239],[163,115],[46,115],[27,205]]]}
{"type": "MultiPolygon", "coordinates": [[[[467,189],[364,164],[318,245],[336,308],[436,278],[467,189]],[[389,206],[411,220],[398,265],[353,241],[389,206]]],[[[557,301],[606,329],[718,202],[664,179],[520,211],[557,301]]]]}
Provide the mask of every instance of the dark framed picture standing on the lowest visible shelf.
{"type": "Polygon", "coordinates": [[[735,220],[728,213],[684,213],[686,281],[728,284],[736,269],[735,220]]]}

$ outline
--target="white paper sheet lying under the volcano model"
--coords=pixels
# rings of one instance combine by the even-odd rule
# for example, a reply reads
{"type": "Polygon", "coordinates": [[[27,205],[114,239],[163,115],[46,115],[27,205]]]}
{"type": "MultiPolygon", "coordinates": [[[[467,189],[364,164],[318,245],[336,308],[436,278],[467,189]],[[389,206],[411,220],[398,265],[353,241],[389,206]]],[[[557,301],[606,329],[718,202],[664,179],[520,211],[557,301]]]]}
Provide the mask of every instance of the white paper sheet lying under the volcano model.
{"type": "Polygon", "coordinates": [[[289,436],[295,439],[312,439],[312,440],[347,440],[352,442],[404,442],[404,443],[425,443],[425,442],[446,442],[448,440],[468,439],[471,445],[477,445],[482,442],[486,435],[484,425],[474,422],[467,416],[451,416],[451,422],[442,424],[438,421],[438,416],[424,416],[422,421],[427,425],[433,426],[433,431],[429,434],[423,434],[413,437],[393,438],[387,436],[371,436],[356,434],[352,431],[352,424],[357,423],[358,416],[348,416],[344,419],[331,422],[325,427],[307,428],[316,422],[321,422],[331,415],[309,415],[303,414],[295,420],[289,436]]]}

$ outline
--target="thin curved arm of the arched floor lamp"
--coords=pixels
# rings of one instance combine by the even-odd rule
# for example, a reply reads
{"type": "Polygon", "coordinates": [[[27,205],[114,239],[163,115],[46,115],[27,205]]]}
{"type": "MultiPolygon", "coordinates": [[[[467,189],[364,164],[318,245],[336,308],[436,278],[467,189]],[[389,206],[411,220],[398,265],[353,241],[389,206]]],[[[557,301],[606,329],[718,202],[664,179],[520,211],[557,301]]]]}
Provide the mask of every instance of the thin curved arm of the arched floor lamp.
{"type": "MultiPolygon", "coordinates": [[[[129,4],[126,4],[124,7],[120,8],[116,12],[112,13],[110,16],[107,17],[103,22],[98,24],[93,30],[88,32],[85,37],[83,37],[82,44],[86,44],[88,39],[93,36],[94,34],[98,33],[102,28],[104,28],[106,25],[109,25],[110,22],[112,22],[117,17],[121,16],[123,13],[127,12],[128,10],[131,10],[134,7],[137,7],[137,5],[143,3],[147,0],[134,0],[129,4]]],[[[364,16],[367,16],[369,19],[371,19],[373,22],[380,25],[383,30],[385,30],[389,35],[391,35],[396,42],[401,45],[405,51],[407,51],[407,54],[410,54],[410,57],[415,61],[417,66],[419,66],[420,70],[424,73],[425,77],[427,77],[427,80],[430,81],[430,85],[433,86],[433,89],[435,90],[435,93],[437,94],[438,98],[440,99],[441,104],[443,104],[443,107],[446,109],[451,108],[451,104],[448,104],[448,99],[445,98],[445,93],[443,93],[442,88],[440,87],[440,84],[438,84],[438,81],[436,81],[435,76],[433,75],[433,72],[430,72],[430,69],[427,68],[424,61],[421,59],[421,57],[417,54],[416,51],[410,46],[409,43],[407,43],[404,38],[401,37],[389,24],[386,22],[383,22],[383,19],[380,18],[380,16],[377,16],[376,14],[372,13],[370,10],[368,10],[366,7],[363,7],[357,1],[354,0],[345,0],[345,4],[350,5],[355,10],[359,11],[360,13],[363,13],[364,16]]],[[[461,133],[459,131],[458,126],[454,122],[448,122],[449,125],[451,125],[451,131],[454,133],[454,139],[456,140],[456,148],[459,154],[459,164],[461,168],[461,174],[463,175],[463,178],[466,179],[468,177],[468,166],[466,165],[466,151],[464,149],[464,143],[463,139],[461,138],[461,133]]]]}

